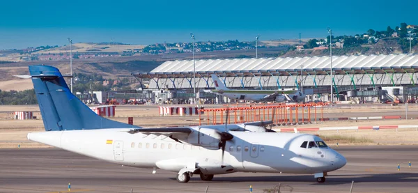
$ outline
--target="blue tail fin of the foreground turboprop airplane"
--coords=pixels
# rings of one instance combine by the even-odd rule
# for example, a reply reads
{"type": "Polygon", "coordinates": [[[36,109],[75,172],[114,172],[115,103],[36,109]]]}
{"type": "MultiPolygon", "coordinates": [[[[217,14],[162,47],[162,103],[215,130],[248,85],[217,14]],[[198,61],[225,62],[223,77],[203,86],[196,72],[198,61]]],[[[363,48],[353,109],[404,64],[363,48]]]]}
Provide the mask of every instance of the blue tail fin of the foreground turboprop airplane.
{"type": "Polygon", "coordinates": [[[73,95],[63,75],[48,65],[29,66],[42,121],[47,131],[138,128],[95,114],[73,95]]]}

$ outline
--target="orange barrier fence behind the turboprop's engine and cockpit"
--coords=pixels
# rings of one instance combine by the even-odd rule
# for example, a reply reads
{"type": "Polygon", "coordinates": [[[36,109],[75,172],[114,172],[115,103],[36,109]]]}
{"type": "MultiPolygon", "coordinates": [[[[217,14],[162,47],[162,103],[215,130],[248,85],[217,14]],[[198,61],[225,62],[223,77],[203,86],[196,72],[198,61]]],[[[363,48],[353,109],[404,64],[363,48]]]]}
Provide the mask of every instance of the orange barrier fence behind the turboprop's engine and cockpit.
{"type": "Polygon", "coordinates": [[[228,114],[228,123],[247,123],[254,121],[272,121],[276,125],[293,125],[323,121],[325,103],[274,104],[251,107],[224,107],[199,110],[199,125],[202,125],[203,112],[206,112],[206,124],[224,124],[228,114]],[[228,112],[227,112],[228,111],[228,112]]]}

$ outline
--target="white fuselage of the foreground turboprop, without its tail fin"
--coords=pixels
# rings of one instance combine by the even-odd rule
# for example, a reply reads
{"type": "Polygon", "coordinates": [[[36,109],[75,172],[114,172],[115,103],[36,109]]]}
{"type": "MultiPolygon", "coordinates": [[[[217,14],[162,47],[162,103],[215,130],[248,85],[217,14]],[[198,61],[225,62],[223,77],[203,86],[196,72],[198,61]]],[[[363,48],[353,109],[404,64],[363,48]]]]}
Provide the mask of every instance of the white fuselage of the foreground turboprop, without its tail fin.
{"type": "Polygon", "coordinates": [[[301,148],[304,141],[322,141],[310,134],[230,132],[233,139],[227,141],[222,161],[219,148],[192,146],[153,134],[130,134],[129,130],[35,132],[29,133],[28,139],[108,162],[176,172],[195,164],[208,174],[318,173],[346,164],[345,158],[331,148],[301,148]]]}

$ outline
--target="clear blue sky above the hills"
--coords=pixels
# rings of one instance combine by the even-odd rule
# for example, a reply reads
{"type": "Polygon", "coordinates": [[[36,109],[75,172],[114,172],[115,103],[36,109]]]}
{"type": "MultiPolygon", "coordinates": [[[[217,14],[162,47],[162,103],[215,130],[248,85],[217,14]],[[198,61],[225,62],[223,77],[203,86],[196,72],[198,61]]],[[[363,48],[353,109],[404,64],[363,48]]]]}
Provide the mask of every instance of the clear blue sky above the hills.
{"type": "Polygon", "coordinates": [[[6,1],[0,49],[116,42],[148,45],[201,40],[322,38],[401,22],[418,24],[418,1],[6,1]],[[408,5],[408,6],[406,6],[408,5]],[[414,9],[413,9],[414,8],[414,9]]]}

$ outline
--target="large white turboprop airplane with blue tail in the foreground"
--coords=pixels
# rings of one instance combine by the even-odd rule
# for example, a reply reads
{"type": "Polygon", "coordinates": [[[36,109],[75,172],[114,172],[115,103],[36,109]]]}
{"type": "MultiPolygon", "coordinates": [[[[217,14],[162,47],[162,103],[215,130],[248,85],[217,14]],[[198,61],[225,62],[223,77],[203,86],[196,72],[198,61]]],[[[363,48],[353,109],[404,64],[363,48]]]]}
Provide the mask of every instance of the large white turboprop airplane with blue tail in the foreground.
{"type": "MultiPolygon", "coordinates": [[[[234,172],[310,173],[318,183],[346,158],[312,134],[267,130],[270,121],[141,128],[98,116],[73,95],[57,68],[29,66],[45,132],[27,138],[123,166],[176,172],[179,183],[234,172]],[[269,132],[270,131],[270,132],[269,132]]],[[[226,116],[228,117],[228,116],[226,116]]]]}

